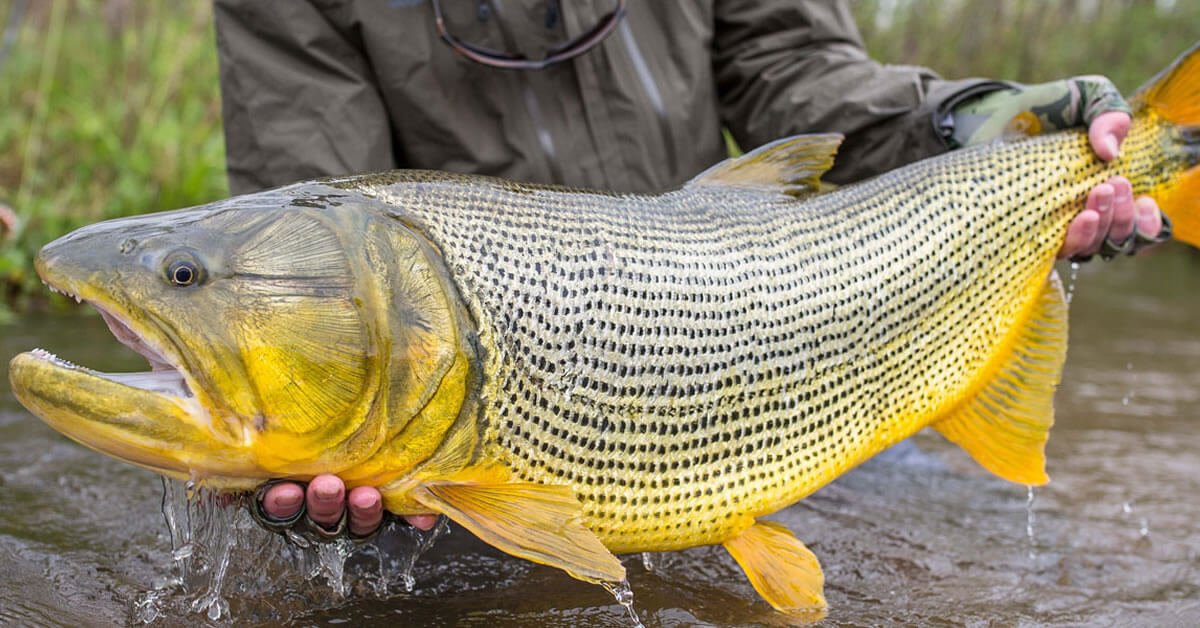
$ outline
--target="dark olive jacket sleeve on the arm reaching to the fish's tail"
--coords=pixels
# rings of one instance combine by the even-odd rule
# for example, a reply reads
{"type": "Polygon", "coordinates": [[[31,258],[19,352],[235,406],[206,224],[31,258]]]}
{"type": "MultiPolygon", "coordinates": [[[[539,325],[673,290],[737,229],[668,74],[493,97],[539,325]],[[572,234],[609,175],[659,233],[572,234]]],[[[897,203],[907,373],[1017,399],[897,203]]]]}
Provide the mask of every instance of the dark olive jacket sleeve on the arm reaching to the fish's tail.
{"type": "Polygon", "coordinates": [[[714,73],[733,138],[749,150],[840,132],[830,181],[944,152],[938,125],[953,104],[1003,85],[871,60],[844,0],[718,0],[714,20],[714,73]]]}

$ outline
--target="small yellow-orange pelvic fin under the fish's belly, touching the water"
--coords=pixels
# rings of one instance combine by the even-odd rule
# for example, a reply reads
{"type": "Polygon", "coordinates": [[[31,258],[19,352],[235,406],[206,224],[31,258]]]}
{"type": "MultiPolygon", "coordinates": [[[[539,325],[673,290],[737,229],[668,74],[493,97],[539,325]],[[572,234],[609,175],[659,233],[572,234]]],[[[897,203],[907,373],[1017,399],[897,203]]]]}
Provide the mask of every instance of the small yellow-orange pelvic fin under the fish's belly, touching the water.
{"type": "Polygon", "coordinates": [[[755,591],[775,610],[824,616],[824,574],[811,550],[774,521],[758,521],[724,543],[755,591]]]}

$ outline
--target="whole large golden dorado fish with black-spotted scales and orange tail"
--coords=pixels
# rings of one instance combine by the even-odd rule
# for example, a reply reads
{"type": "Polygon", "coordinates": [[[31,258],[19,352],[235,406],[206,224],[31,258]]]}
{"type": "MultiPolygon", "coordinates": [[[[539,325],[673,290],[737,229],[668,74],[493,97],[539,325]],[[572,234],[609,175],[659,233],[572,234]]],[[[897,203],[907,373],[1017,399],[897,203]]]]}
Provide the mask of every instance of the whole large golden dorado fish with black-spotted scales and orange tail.
{"type": "Polygon", "coordinates": [[[840,138],[817,134],[661,196],[392,172],[98,223],[38,273],[151,372],[35,351],[13,390],[174,478],[336,473],[588,581],[722,544],[820,612],[816,557],[766,515],[925,426],[1048,480],[1055,253],[1114,175],[1200,243],[1196,50],[1133,97],[1110,163],[1063,132],[826,191],[840,138]]]}

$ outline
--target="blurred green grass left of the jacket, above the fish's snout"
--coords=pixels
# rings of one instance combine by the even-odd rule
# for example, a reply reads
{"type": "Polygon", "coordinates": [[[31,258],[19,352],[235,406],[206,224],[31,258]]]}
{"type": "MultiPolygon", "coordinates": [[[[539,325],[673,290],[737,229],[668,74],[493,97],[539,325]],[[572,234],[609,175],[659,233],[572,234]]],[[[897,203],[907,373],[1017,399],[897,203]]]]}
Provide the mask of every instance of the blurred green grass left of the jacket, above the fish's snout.
{"type": "MultiPolygon", "coordinates": [[[[0,19],[13,2],[0,4],[0,19]]],[[[208,2],[32,1],[0,66],[0,303],[44,303],[47,241],[226,195],[208,2]]]]}

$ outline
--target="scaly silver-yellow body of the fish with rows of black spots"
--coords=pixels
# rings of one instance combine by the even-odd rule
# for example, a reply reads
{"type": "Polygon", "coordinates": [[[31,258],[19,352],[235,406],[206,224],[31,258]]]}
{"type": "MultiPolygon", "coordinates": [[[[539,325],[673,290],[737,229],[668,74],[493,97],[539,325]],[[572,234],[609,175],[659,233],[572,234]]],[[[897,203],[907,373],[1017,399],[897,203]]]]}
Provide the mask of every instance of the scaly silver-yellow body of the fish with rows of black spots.
{"type": "Polygon", "coordinates": [[[1058,134],[800,199],[337,185],[444,255],[485,348],[485,457],[569,484],[624,552],[724,540],[943,415],[1110,171],[1058,134]]]}

